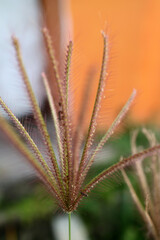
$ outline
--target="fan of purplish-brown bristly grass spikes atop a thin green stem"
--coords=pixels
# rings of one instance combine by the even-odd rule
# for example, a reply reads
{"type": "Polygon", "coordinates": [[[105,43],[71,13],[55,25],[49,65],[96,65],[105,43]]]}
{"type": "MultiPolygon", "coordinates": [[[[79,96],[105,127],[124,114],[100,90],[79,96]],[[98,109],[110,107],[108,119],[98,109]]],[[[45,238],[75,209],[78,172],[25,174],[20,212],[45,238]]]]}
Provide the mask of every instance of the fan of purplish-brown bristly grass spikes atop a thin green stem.
{"type": "MultiPolygon", "coordinates": [[[[53,72],[55,74],[55,80],[58,89],[58,102],[54,99],[51,94],[48,79],[45,73],[42,73],[43,82],[47,92],[47,97],[51,109],[51,114],[55,126],[55,137],[58,146],[58,156],[55,154],[55,150],[52,146],[51,139],[47,130],[47,126],[43,119],[42,113],[36,101],[35,95],[31,88],[27,73],[22,60],[22,55],[20,52],[19,42],[16,38],[13,38],[13,45],[16,51],[16,57],[19,64],[19,70],[22,75],[22,80],[25,85],[26,92],[28,94],[28,99],[32,106],[33,115],[41,133],[43,144],[47,152],[47,158],[51,164],[48,164],[48,159],[43,157],[41,151],[19,122],[12,111],[6,106],[3,100],[0,98],[0,105],[4,111],[8,114],[10,120],[14,123],[16,129],[20,135],[24,138],[27,145],[24,144],[20,137],[13,128],[7,123],[4,118],[0,117],[0,129],[6,134],[15,147],[22,153],[23,156],[32,164],[32,166],[37,171],[39,177],[48,187],[54,197],[57,199],[59,206],[66,212],[74,211],[79,201],[87,196],[91,189],[104,178],[109,178],[115,172],[123,169],[124,167],[132,164],[136,160],[142,157],[150,156],[160,151],[160,145],[151,147],[144,150],[141,153],[132,155],[129,158],[123,159],[122,161],[114,164],[108,169],[102,171],[99,175],[95,176],[88,184],[84,184],[84,180],[91,168],[97,153],[101,150],[103,145],[108,141],[108,139],[114,134],[117,127],[120,125],[122,119],[125,117],[126,113],[130,109],[135,96],[136,90],[133,90],[130,98],[128,99],[125,106],[122,108],[111,127],[104,134],[100,142],[97,144],[95,149],[91,149],[92,143],[95,137],[97,118],[100,109],[101,99],[103,97],[105,83],[109,77],[108,72],[108,56],[109,56],[109,41],[108,37],[102,33],[104,39],[104,52],[102,59],[102,67],[99,77],[99,85],[96,94],[96,99],[93,107],[93,112],[90,120],[90,124],[87,131],[87,136],[84,143],[84,148],[81,152],[81,140],[80,140],[80,126],[83,126],[84,118],[81,116],[79,119],[79,126],[77,131],[72,130],[72,115],[70,109],[70,65],[72,57],[72,41],[69,42],[66,51],[66,62],[64,69],[64,77],[61,79],[57,68],[57,62],[54,55],[54,50],[52,48],[52,40],[49,35],[48,30],[43,29],[43,34],[46,42],[47,51],[53,66],[53,72]],[[58,106],[58,107],[57,107],[58,106]]],[[[87,94],[84,94],[83,102],[85,103],[85,98],[87,94]]],[[[84,106],[84,104],[82,104],[84,106]]],[[[80,113],[83,109],[80,110],[80,113]]],[[[83,113],[85,114],[85,113],[83,113]]],[[[83,129],[82,129],[83,131],[83,129]]]]}

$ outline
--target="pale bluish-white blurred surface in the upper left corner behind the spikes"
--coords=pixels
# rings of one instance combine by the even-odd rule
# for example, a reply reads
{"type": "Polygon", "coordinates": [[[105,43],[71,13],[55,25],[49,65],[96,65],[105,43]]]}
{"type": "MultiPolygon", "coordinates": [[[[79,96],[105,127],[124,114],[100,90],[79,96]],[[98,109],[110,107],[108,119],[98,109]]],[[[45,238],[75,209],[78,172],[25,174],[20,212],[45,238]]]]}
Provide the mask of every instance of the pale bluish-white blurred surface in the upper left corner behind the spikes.
{"type": "Polygon", "coordinates": [[[19,39],[29,79],[41,103],[45,96],[41,79],[45,70],[42,26],[39,0],[0,1],[0,96],[17,116],[29,113],[31,108],[11,37],[19,39]]]}

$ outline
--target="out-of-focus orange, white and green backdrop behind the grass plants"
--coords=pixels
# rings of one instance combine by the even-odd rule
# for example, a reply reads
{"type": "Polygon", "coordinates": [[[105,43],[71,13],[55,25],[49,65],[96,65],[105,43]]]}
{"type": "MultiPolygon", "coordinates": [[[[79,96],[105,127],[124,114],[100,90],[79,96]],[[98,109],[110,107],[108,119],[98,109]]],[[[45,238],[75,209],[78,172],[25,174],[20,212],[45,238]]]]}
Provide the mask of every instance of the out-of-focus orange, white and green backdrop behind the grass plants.
{"type": "MultiPolygon", "coordinates": [[[[58,67],[63,76],[66,46],[74,42],[71,70],[74,122],[88,76],[90,106],[93,105],[103,53],[101,30],[109,35],[109,78],[101,106],[97,139],[111,124],[133,88],[138,96],[126,124],[104,148],[95,164],[102,169],[121,155],[131,154],[130,133],[150,127],[159,138],[160,119],[160,2],[158,0],[5,0],[0,2],[0,96],[36,136],[15,58],[11,36],[21,44],[22,56],[32,87],[50,127],[50,115],[41,73],[56,87],[41,29],[47,26],[53,38],[58,67]],[[90,74],[92,72],[92,74],[90,74]],[[30,127],[32,126],[32,127],[30,127]]],[[[4,114],[2,112],[2,114],[4,114]]],[[[85,113],[86,126],[91,107],[85,113]]],[[[54,142],[54,140],[53,140],[54,142]]],[[[144,137],[138,143],[147,147],[144,137]]],[[[64,214],[36,178],[32,168],[0,136],[0,239],[65,240],[64,214]]],[[[116,184],[115,184],[116,185],[116,184]]],[[[73,239],[147,239],[147,232],[124,184],[85,199],[73,217],[73,239]],[[78,226],[78,227],[77,227],[78,226]],[[81,226],[81,227],[80,227],[81,226]]]]}

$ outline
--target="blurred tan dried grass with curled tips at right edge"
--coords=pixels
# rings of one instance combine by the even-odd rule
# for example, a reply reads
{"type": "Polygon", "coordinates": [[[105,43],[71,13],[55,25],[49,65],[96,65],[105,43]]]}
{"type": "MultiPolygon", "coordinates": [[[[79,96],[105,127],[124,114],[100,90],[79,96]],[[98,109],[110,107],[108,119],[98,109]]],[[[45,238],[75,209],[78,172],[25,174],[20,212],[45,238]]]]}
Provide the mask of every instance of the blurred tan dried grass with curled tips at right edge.
{"type": "MultiPolygon", "coordinates": [[[[152,131],[142,129],[151,147],[156,146],[157,140],[152,131]]],[[[136,154],[142,146],[137,146],[136,140],[139,131],[135,130],[131,137],[132,153],[136,154]]],[[[160,156],[159,153],[151,157],[151,161],[146,161],[142,157],[141,161],[135,163],[135,174],[138,185],[141,187],[142,196],[139,196],[133,187],[128,175],[122,170],[125,182],[128,185],[132,199],[146,224],[148,237],[160,239],[160,156]],[[148,176],[148,172],[150,177],[148,176]]]]}

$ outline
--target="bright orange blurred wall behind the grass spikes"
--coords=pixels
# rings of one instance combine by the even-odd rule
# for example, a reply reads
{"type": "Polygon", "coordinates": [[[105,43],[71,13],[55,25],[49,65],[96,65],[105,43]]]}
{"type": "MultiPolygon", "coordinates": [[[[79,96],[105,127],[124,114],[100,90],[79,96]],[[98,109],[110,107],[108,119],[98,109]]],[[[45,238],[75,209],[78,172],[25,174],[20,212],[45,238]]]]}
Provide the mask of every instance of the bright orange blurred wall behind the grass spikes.
{"type": "Polygon", "coordinates": [[[133,88],[138,90],[138,97],[132,119],[136,122],[155,119],[160,113],[160,1],[71,0],[71,9],[75,42],[73,82],[78,81],[81,89],[88,69],[94,65],[99,71],[100,31],[106,29],[108,22],[114,57],[111,60],[114,76],[108,84],[114,91],[110,106],[104,104],[111,116],[108,120],[115,116],[133,88]]]}

